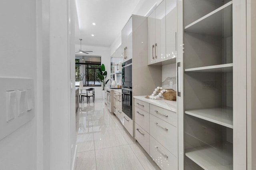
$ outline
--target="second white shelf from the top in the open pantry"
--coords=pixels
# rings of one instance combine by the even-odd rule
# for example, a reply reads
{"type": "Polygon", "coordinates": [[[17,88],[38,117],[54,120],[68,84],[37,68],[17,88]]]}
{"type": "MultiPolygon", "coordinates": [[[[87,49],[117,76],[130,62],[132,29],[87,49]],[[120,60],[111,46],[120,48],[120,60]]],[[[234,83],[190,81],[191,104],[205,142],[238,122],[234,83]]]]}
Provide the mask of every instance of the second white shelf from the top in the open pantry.
{"type": "Polygon", "coordinates": [[[233,63],[220,64],[220,65],[210,65],[206,67],[196,67],[191,69],[185,69],[185,72],[212,72],[212,73],[228,73],[233,71],[233,63]]]}

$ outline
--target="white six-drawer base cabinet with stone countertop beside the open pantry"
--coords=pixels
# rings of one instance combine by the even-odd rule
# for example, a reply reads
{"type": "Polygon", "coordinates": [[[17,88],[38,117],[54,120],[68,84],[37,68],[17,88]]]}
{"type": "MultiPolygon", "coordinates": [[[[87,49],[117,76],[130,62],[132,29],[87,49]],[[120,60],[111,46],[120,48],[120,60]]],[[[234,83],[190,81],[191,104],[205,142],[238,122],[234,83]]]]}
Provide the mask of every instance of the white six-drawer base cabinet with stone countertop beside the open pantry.
{"type": "Polygon", "coordinates": [[[178,169],[176,101],[134,98],[134,137],[162,170],[178,169]]]}

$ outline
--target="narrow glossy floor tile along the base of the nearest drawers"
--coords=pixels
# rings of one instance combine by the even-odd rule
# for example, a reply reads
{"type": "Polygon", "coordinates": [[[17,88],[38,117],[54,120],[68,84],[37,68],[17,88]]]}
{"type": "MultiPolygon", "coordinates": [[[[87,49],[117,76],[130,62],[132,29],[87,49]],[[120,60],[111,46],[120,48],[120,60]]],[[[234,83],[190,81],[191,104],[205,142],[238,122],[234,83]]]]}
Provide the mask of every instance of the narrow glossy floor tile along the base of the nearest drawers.
{"type": "Polygon", "coordinates": [[[140,144],[129,144],[132,151],[142,164],[145,170],[160,170],[152,158],[147,154],[147,152],[140,146],[140,144]]]}

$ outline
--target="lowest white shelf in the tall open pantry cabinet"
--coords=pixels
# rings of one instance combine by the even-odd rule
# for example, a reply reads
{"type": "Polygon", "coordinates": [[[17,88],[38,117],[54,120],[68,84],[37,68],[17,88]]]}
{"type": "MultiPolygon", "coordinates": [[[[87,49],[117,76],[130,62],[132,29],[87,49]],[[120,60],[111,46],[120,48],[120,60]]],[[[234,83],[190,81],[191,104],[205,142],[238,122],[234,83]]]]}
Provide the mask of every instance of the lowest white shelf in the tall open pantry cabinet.
{"type": "Polygon", "coordinates": [[[230,142],[186,149],[186,156],[205,170],[232,170],[233,144],[230,142]]]}

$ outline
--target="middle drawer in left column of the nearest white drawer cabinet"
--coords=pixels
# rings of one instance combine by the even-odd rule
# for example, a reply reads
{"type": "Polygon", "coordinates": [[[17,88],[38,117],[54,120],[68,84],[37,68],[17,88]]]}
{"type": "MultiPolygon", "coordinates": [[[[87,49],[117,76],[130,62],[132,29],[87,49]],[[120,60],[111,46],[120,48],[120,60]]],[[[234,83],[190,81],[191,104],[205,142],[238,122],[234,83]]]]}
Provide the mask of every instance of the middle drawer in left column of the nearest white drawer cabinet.
{"type": "Polygon", "coordinates": [[[149,133],[149,113],[148,112],[135,106],[134,107],[134,122],[136,122],[144,130],[146,130],[146,132],[149,133]]]}

